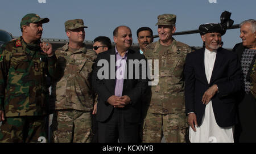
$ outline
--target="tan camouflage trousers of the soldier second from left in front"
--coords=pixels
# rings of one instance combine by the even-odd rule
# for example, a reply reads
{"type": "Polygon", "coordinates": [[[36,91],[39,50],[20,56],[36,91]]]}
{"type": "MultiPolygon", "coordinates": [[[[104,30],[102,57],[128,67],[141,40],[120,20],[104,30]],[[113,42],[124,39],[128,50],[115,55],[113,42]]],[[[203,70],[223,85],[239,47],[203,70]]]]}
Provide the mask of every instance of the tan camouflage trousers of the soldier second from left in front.
{"type": "Polygon", "coordinates": [[[55,110],[51,125],[51,142],[88,143],[92,141],[90,112],[75,109],[55,110]]]}

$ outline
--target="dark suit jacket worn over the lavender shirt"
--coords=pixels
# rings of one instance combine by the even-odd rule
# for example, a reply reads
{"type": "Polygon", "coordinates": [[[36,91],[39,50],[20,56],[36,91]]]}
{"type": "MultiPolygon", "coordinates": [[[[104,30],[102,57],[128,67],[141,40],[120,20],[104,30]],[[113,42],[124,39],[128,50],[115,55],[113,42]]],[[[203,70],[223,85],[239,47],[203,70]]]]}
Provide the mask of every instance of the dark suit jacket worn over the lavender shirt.
{"type": "MultiPolygon", "coordinates": [[[[113,111],[113,106],[107,102],[110,96],[115,95],[115,79],[110,78],[111,74],[115,76],[113,72],[110,72],[111,70],[114,70],[115,72],[115,61],[110,62],[110,55],[113,55],[115,58],[115,48],[98,54],[92,76],[92,86],[94,91],[98,93],[99,97],[99,101],[97,104],[97,121],[100,122],[106,121],[113,111]],[[97,72],[101,69],[101,66],[97,66],[97,63],[101,59],[105,59],[105,61],[110,64],[106,66],[109,68],[109,79],[98,79],[97,77],[97,72]],[[112,69],[110,68],[110,66],[112,67],[112,69]]],[[[144,58],[144,55],[129,49],[126,60],[127,79],[124,79],[123,81],[122,96],[127,95],[131,99],[131,103],[126,105],[125,108],[122,109],[123,116],[127,122],[139,122],[141,118],[141,95],[144,93],[147,85],[147,80],[141,78],[141,70],[146,70],[146,66],[142,67],[142,65],[139,65],[139,79],[135,79],[135,65],[133,65],[133,79],[129,79],[129,75],[131,75],[130,73],[132,73],[129,72],[129,59],[138,59],[138,61],[144,59],[145,62],[146,59],[144,58]]],[[[105,73],[106,72],[104,72],[104,74],[105,73]]]]}

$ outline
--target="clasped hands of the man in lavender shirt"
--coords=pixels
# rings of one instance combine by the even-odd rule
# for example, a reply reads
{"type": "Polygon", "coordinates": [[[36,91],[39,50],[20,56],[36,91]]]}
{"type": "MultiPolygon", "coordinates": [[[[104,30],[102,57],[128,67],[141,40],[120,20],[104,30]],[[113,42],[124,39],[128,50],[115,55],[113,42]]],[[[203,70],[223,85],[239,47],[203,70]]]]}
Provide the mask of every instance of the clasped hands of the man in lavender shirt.
{"type": "Polygon", "coordinates": [[[130,97],[125,95],[122,97],[118,97],[118,96],[110,96],[109,99],[107,100],[107,102],[114,106],[114,108],[124,108],[127,104],[129,104],[131,101],[130,97]]]}

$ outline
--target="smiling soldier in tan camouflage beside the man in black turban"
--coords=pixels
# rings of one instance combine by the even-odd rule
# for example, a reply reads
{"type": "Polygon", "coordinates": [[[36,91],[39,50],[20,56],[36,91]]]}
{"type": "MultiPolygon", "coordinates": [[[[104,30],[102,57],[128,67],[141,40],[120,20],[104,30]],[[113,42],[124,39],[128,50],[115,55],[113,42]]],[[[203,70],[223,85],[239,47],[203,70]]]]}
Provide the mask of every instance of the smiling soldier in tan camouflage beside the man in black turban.
{"type": "Polygon", "coordinates": [[[172,37],[176,30],[175,22],[176,15],[159,15],[156,25],[160,39],[148,45],[144,52],[147,59],[159,59],[159,82],[151,87],[150,106],[143,126],[143,142],[161,142],[163,135],[166,142],[185,142],[188,123],[185,115],[183,68],[191,48],[172,37]]]}

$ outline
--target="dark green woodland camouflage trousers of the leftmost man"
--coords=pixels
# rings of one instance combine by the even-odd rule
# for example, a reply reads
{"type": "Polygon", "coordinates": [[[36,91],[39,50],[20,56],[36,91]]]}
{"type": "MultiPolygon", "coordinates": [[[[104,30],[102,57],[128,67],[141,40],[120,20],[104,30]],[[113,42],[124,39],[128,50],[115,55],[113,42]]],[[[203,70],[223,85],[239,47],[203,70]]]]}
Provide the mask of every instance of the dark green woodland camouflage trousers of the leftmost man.
{"type": "Polygon", "coordinates": [[[0,127],[0,143],[47,142],[47,116],[6,117],[0,127]]]}

